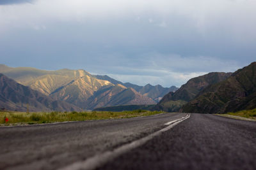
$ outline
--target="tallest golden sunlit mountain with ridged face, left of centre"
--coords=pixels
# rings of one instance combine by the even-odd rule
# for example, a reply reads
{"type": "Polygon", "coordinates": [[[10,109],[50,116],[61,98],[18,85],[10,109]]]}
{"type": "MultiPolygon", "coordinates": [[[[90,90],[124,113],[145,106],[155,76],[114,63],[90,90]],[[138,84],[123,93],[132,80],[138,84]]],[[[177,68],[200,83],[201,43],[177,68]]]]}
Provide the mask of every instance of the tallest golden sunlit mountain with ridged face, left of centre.
{"type": "Polygon", "coordinates": [[[60,69],[44,71],[30,67],[1,69],[4,74],[18,80],[33,90],[37,90],[55,100],[67,101],[85,109],[84,102],[109,81],[99,80],[83,69],[60,69]]]}

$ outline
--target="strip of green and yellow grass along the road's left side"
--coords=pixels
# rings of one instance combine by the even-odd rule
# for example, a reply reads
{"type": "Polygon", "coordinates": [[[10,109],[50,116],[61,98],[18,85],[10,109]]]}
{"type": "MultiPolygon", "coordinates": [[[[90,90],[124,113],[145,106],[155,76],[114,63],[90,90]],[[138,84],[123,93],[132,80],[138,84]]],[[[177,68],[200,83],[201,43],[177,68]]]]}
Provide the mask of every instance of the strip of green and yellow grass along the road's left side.
{"type": "Polygon", "coordinates": [[[131,118],[156,115],[163,113],[163,111],[82,111],[82,112],[17,112],[17,111],[1,111],[0,124],[1,125],[22,125],[22,124],[47,124],[53,122],[66,122],[66,121],[83,121],[83,120],[100,120],[109,118],[131,118]],[[8,122],[6,122],[8,118],[8,122]]]}

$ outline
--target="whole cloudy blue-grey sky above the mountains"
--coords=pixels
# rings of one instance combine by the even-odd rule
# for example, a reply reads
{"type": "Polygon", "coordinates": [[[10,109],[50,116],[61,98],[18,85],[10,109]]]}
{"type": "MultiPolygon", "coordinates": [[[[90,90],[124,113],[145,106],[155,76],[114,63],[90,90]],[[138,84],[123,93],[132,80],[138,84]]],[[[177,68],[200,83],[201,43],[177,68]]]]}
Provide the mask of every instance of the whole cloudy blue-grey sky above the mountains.
{"type": "Polygon", "coordinates": [[[256,60],[255,0],[1,0],[0,64],[170,87],[256,60]]]}

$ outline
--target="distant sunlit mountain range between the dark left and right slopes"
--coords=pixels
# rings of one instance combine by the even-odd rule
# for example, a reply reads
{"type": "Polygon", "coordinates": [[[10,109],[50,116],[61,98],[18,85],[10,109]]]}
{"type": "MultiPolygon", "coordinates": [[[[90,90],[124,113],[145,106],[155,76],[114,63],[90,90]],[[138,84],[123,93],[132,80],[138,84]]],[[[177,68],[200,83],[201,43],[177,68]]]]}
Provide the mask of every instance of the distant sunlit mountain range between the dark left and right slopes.
{"type": "Polygon", "coordinates": [[[106,75],[92,75],[83,69],[45,71],[0,64],[0,73],[54,101],[65,101],[83,110],[122,104],[156,104],[164,94],[177,90],[177,87],[122,83],[106,75]]]}

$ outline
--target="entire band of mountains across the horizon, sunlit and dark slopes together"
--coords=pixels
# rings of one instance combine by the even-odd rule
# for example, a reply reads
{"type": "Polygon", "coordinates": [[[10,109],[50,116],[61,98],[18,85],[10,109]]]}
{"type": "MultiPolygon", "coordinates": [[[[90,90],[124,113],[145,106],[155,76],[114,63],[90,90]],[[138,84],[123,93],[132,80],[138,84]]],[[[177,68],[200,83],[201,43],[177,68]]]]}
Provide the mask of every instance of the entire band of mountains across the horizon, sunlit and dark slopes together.
{"type": "Polygon", "coordinates": [[[212,72],[191,78],[180,89],[122,83],[83,69],[45,71],[0,64],[0,73],[0,106],[8,110],[25,111],[28,104],[31,111],[145,108],[227,113],[256,108],[256,62],[234,73],[212,72]]]}

